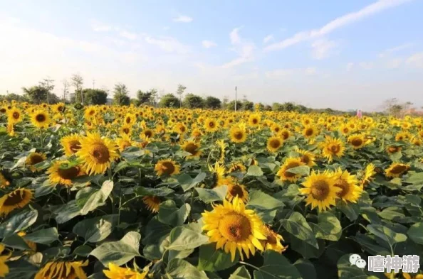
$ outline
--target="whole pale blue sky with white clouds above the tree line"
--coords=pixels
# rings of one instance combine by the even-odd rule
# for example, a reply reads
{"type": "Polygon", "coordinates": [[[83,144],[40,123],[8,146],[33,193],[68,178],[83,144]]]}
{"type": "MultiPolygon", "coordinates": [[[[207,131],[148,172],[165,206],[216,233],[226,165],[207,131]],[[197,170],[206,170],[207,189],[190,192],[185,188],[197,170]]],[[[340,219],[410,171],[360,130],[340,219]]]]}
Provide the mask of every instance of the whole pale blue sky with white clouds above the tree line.
{"type": "MultiPolygon", "coordinates": [[[[252,102],[423,106],[423,1],[0,0],[0,94],[79,73],[252,102]]],[[[111,93],[110,93],[111,94],[111,93]]]]}

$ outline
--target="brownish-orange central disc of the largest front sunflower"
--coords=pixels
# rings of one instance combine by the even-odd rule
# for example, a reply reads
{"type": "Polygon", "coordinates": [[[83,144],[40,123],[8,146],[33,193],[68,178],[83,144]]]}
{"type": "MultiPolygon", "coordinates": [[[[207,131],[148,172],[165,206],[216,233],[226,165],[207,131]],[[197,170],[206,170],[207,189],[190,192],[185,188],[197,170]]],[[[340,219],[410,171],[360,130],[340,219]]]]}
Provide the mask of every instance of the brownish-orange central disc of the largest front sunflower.
{"type": "Polygon", "coordinates": [[[231,212],[220,220],[219,231],[225,239],[240,242],[248,239],[251,235],[251,224],[244,215],[231,212]]]}

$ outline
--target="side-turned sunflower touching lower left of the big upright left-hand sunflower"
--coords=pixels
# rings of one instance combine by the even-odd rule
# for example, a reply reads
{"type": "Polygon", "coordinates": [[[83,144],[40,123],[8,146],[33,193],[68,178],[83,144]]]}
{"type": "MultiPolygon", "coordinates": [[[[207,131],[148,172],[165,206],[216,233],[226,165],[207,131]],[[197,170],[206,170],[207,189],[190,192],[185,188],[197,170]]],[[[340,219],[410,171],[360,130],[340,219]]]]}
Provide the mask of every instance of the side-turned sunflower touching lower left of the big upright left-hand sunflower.
{"type": "Polygon", "coordinates": [[[67,160],[56,160],[53,165],[48,168],[48,180],[52,184],[61,184],[66,186],[72,185],[72,180],[83,174],[80,166],[69,165],[67,160]]]}

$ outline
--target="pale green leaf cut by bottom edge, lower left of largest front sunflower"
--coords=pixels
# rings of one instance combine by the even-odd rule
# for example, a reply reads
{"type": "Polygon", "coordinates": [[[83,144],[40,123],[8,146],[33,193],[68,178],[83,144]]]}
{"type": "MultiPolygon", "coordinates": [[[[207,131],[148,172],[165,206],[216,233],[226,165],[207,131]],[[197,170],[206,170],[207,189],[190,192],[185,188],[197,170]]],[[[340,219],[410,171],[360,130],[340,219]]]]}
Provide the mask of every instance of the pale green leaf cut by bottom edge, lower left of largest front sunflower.
{"type": "Polygon", "coordinates": [[[166,274],[169,279],[209,279],[204,271],[198,270],[191,263],[181,258],[174,258],[169,261],[166,274]]]}

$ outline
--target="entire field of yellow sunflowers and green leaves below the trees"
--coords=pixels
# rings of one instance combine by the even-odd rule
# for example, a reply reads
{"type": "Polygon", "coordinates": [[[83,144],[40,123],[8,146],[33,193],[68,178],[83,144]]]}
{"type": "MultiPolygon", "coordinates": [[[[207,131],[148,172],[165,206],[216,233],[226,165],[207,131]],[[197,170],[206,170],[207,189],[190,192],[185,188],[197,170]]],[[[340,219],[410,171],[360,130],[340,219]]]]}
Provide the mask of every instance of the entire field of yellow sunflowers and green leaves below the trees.
{"type": "Polygon", "coordinates": [[[255,109],[1,103],[0,278],[423,278],[422,118],[255,109]]]}

